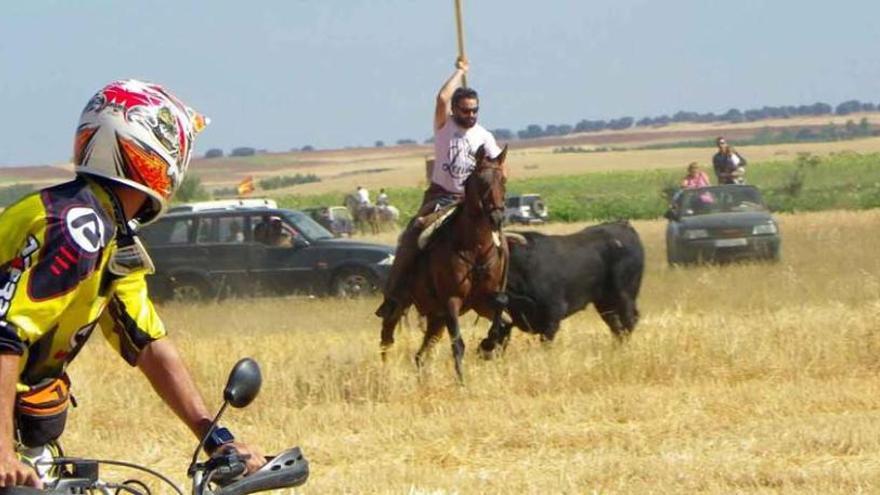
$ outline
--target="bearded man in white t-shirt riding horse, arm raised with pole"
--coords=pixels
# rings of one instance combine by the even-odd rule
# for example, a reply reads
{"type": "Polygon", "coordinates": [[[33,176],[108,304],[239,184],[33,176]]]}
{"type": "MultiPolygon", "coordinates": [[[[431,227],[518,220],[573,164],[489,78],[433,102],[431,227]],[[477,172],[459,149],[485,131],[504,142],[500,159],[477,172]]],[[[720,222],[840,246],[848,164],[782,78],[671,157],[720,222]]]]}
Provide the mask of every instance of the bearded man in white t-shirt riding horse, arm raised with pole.
{"type": "Polygon", "coordinates": [[[455,72],[440,88],[434,110],[434,163],[431,185],[425,191],[422,206],[401,234],[394,264],[385,284],[385,300],[376,316],[387,318],[402,311],[409,303],[407,274],[418,253],[422,230],[437,220],[448,208],[459,204],[464,183],[477,166],[475,154],[482,146],[489,158],[501,154],[495,137],[477,124],[479,97],[462,86],[468,71],[464,58],[456,61],[455,72]]]}

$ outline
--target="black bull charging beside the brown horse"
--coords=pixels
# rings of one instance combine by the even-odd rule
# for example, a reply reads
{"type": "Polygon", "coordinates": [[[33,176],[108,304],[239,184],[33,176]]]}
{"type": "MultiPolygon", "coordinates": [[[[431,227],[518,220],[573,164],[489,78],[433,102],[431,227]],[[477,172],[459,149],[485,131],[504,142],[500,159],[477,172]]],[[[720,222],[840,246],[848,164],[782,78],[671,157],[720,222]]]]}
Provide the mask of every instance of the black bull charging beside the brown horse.
{"type": "Polygon", "coordinates": [[[510,249],[507,309],[512,324],[491,330],[480,343],[482,351],[505,346],[512,326],[553,340],[559,323],[591,302],[618,338],[635,329],[645,252],[629,222],[564,236],[523,236],[528,242],[511,243],[510,249]]]}

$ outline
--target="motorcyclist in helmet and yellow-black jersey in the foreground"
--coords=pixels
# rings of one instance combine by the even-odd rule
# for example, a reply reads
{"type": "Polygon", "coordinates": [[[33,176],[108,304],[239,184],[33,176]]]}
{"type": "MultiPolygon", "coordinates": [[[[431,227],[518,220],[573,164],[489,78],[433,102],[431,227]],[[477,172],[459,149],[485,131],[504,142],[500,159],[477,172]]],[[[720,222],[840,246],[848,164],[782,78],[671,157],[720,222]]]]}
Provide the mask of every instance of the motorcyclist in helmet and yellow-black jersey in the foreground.
{"type": "MultiPolygon", "coordinates": [[[[0,486],[42,486],[24,461],[58,455],[70,402],[65,372],[96,326],[201,439],[212,415],[147,294],[152,261],[137,227],[183,181],[207,121],[165,88],[135,80],[98,91],[74,139],[76,177],[0,214],[0,486]]],[[[226,428],[207,450],[265,459],[226,428]]]]}

